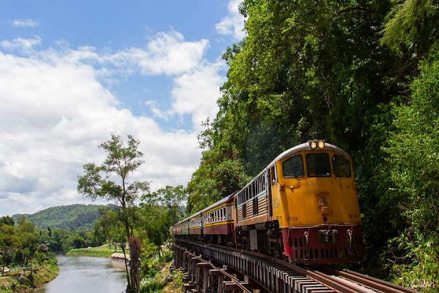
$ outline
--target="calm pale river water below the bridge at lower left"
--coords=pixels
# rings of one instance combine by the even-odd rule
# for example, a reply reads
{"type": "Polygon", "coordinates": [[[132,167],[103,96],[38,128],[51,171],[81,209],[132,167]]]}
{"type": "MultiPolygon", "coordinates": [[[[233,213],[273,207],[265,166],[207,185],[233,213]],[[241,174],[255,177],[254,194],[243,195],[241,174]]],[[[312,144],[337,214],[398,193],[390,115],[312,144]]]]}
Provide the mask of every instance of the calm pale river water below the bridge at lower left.
{"type": "Polygon", "coordinates": [[[58,277],[32,293],[121,293],[126,289],[123,261],[104,257],[58,255],[58,277]]]}

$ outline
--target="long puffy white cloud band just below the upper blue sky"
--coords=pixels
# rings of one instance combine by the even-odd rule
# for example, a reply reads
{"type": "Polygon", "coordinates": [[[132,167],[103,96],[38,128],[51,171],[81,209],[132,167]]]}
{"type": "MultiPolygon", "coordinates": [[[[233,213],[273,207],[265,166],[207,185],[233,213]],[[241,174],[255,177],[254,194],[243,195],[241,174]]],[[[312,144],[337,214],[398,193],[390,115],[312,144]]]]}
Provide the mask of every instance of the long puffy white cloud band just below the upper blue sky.
{"type": "Polygon", "coordinates": [[[209,40],[187,41],[180,32],[170,30],[155,34],[145,47],[130,47],[115,53],[99,54],[91,46],[71,49],[65,42],[60,45],[60,50],[49,49],[39,52],[38,56],[49,61],[62,58],[71,63],[95,62],[117,70],[126,70],[128,74],[139,70],[144,75],[180,75],[200,65],[209,40]]]}

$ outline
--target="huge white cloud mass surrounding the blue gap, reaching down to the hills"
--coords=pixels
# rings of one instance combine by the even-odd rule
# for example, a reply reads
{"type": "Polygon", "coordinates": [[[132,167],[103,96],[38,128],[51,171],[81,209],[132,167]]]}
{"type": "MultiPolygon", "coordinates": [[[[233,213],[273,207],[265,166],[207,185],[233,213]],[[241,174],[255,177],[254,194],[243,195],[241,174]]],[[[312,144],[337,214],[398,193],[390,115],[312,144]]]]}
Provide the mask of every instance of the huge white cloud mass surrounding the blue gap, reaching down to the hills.
{"type": "Polygon", "coordinates": [[[223,65],[203,58],[206,40],[188,42],[171,31],[157,34],[143,49],[113,54],[66,44],[30,50],[41,43],[32,40],[30,45],[19,38],[0,43],[18,51],[0,51],[0,215],[89,202],[75,190],[77,176],[82,164],[102,161],[97,145],[109,139],[109,132],[133,134],[141,141],[146,163],[134,178],[152,180],[152,189],[187,183],[200,159],[198,126],[165,131],[153,117],[123,108],[100,78],[116,71],[171,75],[171,108],[146,105],[156,109],[154,117],[189,113],[198,124],[215,115],[222,83],[223,65]],[[20,53],[23,47],[28,50],[20,53]]]}

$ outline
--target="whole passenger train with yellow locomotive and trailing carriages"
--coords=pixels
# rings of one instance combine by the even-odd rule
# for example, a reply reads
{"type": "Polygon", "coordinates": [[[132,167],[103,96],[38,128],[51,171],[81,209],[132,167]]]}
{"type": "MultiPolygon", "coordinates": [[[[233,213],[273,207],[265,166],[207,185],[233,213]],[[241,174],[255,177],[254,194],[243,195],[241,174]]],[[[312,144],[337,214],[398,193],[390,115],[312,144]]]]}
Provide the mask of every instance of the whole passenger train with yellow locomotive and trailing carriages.
{"type": "Polygon", "coordinates": [[[241,190],[172,227],[176,240],[257,251],[290,263],[364,255],[351,156],[324,140],[279,154],[241,190]]]}

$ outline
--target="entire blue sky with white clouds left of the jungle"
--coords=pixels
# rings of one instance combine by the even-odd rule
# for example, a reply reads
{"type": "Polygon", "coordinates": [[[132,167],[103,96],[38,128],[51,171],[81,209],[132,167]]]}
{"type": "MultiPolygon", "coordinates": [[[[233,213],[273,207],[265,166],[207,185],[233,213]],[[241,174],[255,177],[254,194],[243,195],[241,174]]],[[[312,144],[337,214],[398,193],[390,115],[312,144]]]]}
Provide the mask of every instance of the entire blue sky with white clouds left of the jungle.
{"type": "MultiPolygon", "coordinates": [[[[186,185],[217,113],[239,0],[2,1],[0,215],[91,203],[76,191],[99,143],[141,141],[132,175],[186,185]]],[[[102,202],[97,202],[102,203],[102,202]]]]}

